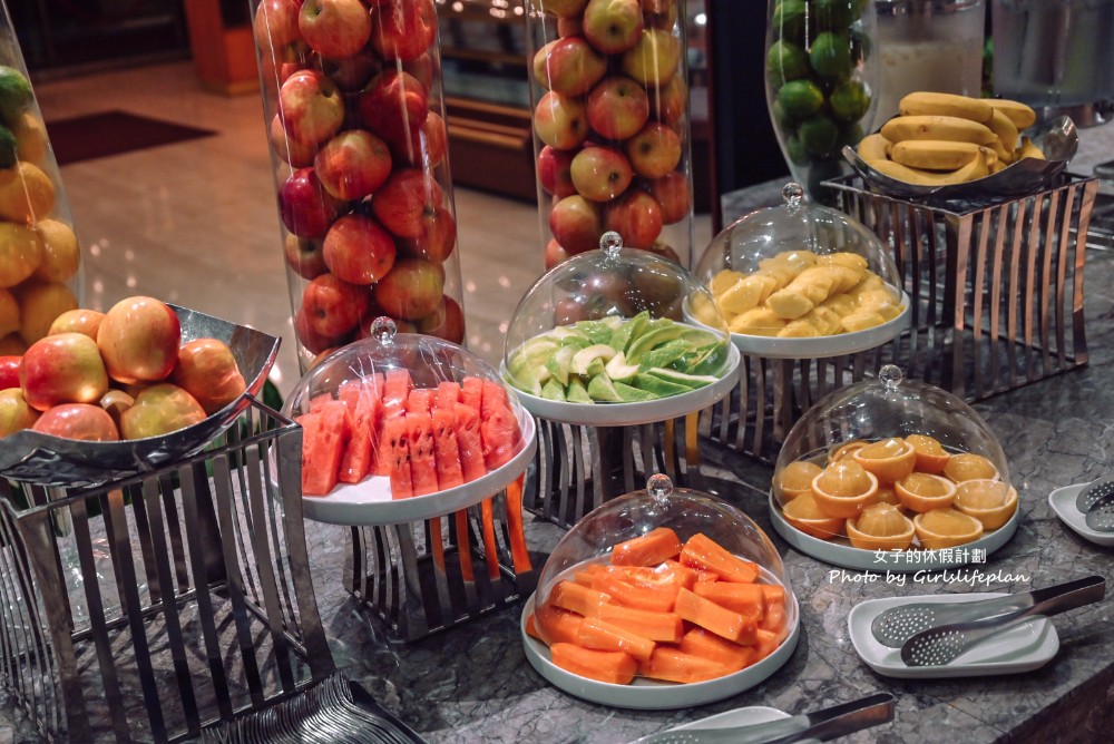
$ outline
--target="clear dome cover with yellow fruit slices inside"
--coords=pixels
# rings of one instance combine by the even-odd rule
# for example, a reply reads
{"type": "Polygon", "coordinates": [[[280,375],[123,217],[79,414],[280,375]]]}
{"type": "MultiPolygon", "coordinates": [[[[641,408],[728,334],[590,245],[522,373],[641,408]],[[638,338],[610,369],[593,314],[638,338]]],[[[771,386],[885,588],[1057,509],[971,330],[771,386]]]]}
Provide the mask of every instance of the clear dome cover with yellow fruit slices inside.
{"type": "MultiPolygon", "coordinates": [[[[808,202],[795,183],[782,196],[783,205],[758,209],[725,227],[693,272],[709,287],[714,311],[729,330],[827,336],[900,314],[901,278],[890,248],[852,217],[808,202]],[[847,327],[840,326],[839,317],[849,313],[847,327]]],[[[702,322],[716,314],[705,306],[694,311],[702,322]]]]}

